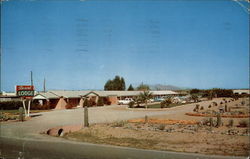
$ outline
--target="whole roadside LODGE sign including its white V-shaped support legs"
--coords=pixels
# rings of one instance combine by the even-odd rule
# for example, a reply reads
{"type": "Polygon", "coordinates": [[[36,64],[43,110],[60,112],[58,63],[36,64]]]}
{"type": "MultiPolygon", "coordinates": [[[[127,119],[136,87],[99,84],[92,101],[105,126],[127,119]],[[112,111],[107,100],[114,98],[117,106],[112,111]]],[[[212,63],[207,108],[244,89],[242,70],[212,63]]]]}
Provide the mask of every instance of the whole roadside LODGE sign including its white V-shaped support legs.
{"type": "Polygon", "coordinates": [[[16,94],[17,94],[17,96],[22,97],[25,116],[29,117],[30,116],[31,99],[35,94],[34,86],[32,86],[32,85],[19,85],[19,86],[16,86],[16,94]],[[25,101],[27,99],[28,99],[28,106],[27,106],[28,110],[26,111],[25,101]]]}

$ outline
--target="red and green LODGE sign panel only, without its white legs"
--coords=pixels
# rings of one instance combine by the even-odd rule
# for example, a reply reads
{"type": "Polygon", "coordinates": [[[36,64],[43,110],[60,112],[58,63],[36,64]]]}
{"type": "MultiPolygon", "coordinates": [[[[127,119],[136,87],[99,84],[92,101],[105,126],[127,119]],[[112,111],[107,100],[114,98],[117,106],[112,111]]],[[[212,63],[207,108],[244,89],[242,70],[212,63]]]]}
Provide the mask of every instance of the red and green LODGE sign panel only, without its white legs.
{"type": "Polygon", "coordinates": [[[20,97],[33,97],[35,94],[34,86],[22,85],[16,86],[16,94],[20,97]]]}

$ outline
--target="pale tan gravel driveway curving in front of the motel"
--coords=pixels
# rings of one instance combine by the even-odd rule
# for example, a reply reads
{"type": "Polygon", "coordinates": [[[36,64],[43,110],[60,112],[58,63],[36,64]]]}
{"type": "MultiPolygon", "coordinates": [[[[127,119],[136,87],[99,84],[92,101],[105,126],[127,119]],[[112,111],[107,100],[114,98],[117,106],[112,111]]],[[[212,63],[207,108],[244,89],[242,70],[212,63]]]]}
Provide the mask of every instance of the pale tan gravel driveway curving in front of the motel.
{"type": "MultiPolygon", "coordinates": [[[[204,101],[199,104],[208,105],[211,101],[204,101]]],[[[119,120],[127,120],[133,118],[140,118],[155,115],[183,115],[185,112],[192,111],[195,104],[187,104],[169,109],[162,110],[131,110],[127,106],[113,105],[104,107],[89,108],[89,122],[93,123],[107,123],[119,120]]],[[[84,109],[67,109],[67,110],[53,110],[50,112],[43,112],[33,117],[26,122],[8,122],[0,124],[0,136],[10,138],[41,138],[40,132],[48,130],[53,127],[65,125],[80,125],[84,121],[84,109]]]]}

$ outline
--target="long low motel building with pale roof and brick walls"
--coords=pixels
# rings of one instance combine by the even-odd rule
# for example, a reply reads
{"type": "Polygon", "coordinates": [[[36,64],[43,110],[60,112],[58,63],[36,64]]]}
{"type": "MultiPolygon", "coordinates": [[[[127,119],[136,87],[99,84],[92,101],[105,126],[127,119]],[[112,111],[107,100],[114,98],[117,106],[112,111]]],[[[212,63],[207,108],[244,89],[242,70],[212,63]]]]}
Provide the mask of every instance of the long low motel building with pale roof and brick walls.
{"type": "MultiPolygon", "coordinates": [[[[33,97],[33,103],[46,105],[49,109],[65,109],[67,107],[83,107],[84,100],[88,100],[96,105],[99,98],[104,105],[116,105],[118,100],[134,98],[143,91],[47,91],[39,92],[33,97]]],[[[150,91],[153,98],[178,96],[179,94],[166,91],[150,91]]]]}

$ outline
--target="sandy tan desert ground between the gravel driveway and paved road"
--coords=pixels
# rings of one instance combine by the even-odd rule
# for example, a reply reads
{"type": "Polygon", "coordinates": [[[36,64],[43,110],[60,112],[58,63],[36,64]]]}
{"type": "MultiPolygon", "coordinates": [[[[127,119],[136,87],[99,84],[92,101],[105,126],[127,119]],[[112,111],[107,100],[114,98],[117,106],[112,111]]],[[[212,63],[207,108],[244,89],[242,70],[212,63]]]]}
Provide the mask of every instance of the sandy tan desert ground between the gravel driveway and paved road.
{"type": "MultiPolygon", "coordinates": [[[[213,101],[222,100],[217,98],[213,101]]],[[[246,106],[249,106],[248,99],[239,99],[229,105],[235,105],[242,100],[246,101],[248,104],[246,106]]],[[[202,106],[207,109],[213,101],[207,101],[202,106]]],[[[248,118],[222,118],[223,126],[217,128],[198,124],[207,118],[185,115],[186,111],[181,111],[181,107],[169,109],[176,113],[151,116],[147,119],[147,123],[144,118],[140,118],[111,124],[95,124],[80,131],[65,134],[64,138],[143,149],[249,156],[249,125],[238,127],[239,121],[248,121],[248,118]],[[229,120],[233,120],[233,125],[230,127],[227,126],[229,120]]],[[[190,108],[189,111],[192,109],[190,108]]]]}

